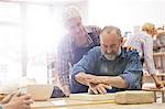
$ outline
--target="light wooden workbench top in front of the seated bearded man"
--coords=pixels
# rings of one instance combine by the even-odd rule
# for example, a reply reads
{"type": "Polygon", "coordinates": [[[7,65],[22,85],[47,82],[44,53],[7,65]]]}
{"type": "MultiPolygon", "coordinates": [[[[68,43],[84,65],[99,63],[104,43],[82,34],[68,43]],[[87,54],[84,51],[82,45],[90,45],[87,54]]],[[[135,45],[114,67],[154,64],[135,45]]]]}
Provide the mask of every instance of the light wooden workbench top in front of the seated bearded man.
{"type": "Polygon", "coordinates": [[[164,109],[165,103],[117,105],[113,100],[87,101],[69,98],[55,98],[34,101],[32,109],[164,109]]]}

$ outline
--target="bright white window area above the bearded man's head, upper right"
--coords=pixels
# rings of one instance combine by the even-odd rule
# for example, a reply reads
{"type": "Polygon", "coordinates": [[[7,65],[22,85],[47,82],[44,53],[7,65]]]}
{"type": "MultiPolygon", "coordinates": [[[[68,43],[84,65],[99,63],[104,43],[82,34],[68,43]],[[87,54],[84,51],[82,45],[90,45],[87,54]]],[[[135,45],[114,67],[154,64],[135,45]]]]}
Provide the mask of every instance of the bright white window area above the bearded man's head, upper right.
{"type": "Polygon", "coordinates": [[[133,31],[144,22],[164,24],[164,0],[90,0],[89,24],[116,25],[122,31],[133,31]]]}

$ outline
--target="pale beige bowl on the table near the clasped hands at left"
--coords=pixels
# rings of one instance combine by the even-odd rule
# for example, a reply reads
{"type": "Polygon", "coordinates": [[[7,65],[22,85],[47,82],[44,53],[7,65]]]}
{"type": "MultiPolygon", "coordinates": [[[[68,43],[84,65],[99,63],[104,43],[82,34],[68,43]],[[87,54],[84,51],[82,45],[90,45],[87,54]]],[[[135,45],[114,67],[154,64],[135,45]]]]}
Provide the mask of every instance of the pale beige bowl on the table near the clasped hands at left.
{"type": "Polygon", "coordinates": [[[31,94],[33,100],[47,100],[53,92],[53,85],[28,85],[26,91],[31,94]]]}

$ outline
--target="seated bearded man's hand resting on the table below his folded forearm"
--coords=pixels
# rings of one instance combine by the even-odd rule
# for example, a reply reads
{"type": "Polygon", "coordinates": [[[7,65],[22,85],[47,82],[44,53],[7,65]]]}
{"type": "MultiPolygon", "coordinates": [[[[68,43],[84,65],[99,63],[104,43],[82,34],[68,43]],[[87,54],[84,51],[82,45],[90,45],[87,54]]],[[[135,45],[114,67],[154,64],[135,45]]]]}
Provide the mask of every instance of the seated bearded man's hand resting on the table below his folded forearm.
{"type": "Polygon", "coordinates": [[[111,88],[112,88],[111,86],[108,86],[105,84],[98,84],[98,85],[90,84],[89,89],[88,89],[88,94],[103,95],[103,94],[107,94],[107,89],[111,89],[111,88]]]}

